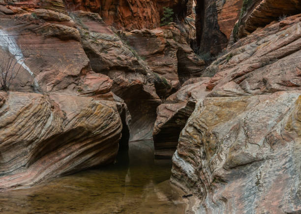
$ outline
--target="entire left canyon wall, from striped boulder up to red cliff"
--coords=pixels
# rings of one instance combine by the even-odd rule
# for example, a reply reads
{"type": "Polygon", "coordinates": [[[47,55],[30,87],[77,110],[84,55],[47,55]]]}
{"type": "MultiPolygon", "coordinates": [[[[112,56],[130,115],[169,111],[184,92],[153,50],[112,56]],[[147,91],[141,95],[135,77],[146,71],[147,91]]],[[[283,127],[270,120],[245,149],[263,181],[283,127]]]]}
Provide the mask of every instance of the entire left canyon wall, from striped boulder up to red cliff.
{"type": "Polygon", "coordinates": [[[0,56],[20,65],[1,91],[1,190],[113,163],[129,140],[152,138],[157,106],[204,70],[191,21],[140,29],[157,27],[164,6],[192,12],[192,1],[0,1],[0,56]],[[163,48],[131,42],[150,38],[163,48]]]}

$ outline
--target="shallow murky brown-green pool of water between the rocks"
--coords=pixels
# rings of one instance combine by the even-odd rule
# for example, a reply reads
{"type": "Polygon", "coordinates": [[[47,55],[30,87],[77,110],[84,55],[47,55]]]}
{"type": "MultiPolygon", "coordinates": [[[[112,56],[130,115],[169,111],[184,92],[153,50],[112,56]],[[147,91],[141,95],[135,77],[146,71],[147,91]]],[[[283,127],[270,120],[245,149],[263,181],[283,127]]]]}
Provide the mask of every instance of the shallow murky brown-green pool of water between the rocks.
{"type": "Polygon", "coordinates": [[[130,143],[114,165],[0,193],[0,213],[183,214],[166,181],[170,170],[171,163],[154,163],[151,141],[130,143]]]}

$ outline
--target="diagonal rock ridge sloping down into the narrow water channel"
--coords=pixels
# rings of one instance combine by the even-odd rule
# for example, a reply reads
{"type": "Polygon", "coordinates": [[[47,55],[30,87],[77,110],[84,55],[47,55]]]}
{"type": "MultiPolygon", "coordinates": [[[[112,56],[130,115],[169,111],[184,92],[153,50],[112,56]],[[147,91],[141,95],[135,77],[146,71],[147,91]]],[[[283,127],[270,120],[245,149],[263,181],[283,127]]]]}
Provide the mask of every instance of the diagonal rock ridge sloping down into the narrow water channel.
{"type": "MultiPolygon", "coordinates": [[[[161,103],[156,94],[160,85],[162,95],[170,91],[168,85],[152,73],[136,51],[121,40],[96,13],[74,11],[83,48],[93,71],[109,76],[112,92],[127,104],[132,116],[131,141],[151,139],[156,107],[161,103]]],[[[105,76],[105,75],[103,75],[105,76]]]]}

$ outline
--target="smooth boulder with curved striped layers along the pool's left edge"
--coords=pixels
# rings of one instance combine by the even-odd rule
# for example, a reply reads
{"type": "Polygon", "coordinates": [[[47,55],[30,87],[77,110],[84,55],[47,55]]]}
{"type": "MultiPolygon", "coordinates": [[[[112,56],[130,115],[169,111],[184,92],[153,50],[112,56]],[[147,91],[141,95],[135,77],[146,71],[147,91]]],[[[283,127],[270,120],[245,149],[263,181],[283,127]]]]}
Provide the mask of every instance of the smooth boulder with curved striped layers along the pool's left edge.
{"type": "Polygon", "coordinates": [[[111,163],[121,119],[111,101],[90,97],[0,93],[0,188],[32,186],[111,163]]]}

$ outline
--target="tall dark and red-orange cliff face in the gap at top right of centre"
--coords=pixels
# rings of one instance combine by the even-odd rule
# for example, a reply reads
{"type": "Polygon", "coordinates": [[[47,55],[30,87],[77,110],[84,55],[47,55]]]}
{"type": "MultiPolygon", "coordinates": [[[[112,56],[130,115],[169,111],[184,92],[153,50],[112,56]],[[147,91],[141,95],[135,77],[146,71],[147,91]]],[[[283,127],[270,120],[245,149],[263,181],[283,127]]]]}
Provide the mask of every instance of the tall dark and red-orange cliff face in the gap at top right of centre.
{"type": "Polygon", "coordinates": [[[197,0],[196,37],[201,51],[217,55],[227,46],[242,0],[197,0]]]}

